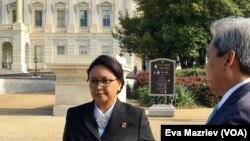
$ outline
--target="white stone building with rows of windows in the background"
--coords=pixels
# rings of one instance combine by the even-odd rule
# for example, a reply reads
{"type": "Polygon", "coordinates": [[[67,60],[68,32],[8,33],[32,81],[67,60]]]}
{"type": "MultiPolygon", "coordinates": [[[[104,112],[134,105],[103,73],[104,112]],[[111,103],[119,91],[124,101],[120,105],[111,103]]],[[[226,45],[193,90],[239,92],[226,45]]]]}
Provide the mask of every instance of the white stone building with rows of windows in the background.
{"type": "Polygon", "coordinates": [[[0,74],[86,64],[100,54],[140,66],[134,55],[119,56],[111,35],[125,10],[135,10],[132,0],[0,0],[0,74]]]}

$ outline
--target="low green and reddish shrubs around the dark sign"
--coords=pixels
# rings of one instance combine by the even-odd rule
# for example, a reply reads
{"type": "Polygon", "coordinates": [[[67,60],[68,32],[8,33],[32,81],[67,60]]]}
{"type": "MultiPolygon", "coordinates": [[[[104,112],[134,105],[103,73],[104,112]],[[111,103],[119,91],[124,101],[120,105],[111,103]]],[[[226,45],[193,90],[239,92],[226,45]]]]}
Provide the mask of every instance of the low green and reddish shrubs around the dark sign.
{"type": "MultiPolygon", "coordinates": [[[[204,69],[183,69],[176,71],[176,94],[170,97],[171,103],[177,107],[206,106],[213,107],[219,97],[211,93],[204,69]]],[[[137,74],[133,90],[129,89],[128,97],[137,99],[141,104],[150,106],[156,104],[169,104],[168,97],[149,96],[149,73],[147,71],[137,74]]]]}

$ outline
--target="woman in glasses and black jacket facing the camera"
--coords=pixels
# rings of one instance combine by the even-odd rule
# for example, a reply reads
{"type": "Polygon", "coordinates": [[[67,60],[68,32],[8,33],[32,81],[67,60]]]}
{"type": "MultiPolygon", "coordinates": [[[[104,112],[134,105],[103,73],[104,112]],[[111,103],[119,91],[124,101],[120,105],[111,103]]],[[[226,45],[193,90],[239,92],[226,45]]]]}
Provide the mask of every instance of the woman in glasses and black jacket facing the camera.
{"type": "Polygon", "coordinates": [[[68,110],[63,141],[154,141],[145,111],[117,97],[124,76],[115,58],[99,56],[87,75],[93,101],[68,110]]]}

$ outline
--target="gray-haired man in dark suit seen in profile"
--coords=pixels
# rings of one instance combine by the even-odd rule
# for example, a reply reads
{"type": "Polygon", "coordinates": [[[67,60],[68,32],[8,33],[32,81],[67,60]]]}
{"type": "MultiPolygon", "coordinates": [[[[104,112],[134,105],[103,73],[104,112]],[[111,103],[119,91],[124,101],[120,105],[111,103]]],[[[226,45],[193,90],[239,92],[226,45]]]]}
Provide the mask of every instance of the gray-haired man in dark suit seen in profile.
{"type": "Polygon", "coordinates": [[[207,124],[250,124],[250,19],[229,17],[211,26],[206,75],[222,97],[207,124]]]}

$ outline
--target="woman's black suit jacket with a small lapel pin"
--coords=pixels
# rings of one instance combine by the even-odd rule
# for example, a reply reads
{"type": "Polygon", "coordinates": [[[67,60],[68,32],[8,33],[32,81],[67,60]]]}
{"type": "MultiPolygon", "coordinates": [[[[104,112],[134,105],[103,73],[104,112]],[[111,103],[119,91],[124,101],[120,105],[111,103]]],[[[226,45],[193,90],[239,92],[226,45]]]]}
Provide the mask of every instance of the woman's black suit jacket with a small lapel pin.
{"type": "Polygon", "coordinates": [[[94,104],[92,101],[69,108],[63,141],[154,141],[145,111],[119,100],[103,135],[99,137],[94,104]]]}

